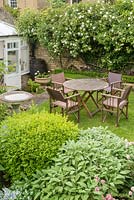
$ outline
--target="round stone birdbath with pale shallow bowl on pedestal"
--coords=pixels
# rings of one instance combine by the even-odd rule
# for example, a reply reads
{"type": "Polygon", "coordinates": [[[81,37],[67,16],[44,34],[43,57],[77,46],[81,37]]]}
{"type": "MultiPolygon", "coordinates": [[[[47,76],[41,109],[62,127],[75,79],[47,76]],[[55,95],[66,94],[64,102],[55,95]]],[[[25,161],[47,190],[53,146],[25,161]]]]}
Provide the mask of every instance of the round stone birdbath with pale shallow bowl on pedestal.
{"type": "Polygon", "coordinates": [[[25,91],[10,91],[0,95],[0,101],[10,104],[16,112],[18,112],[22,103],[27,102],[32,98],[33,95],[25,91]]]}

